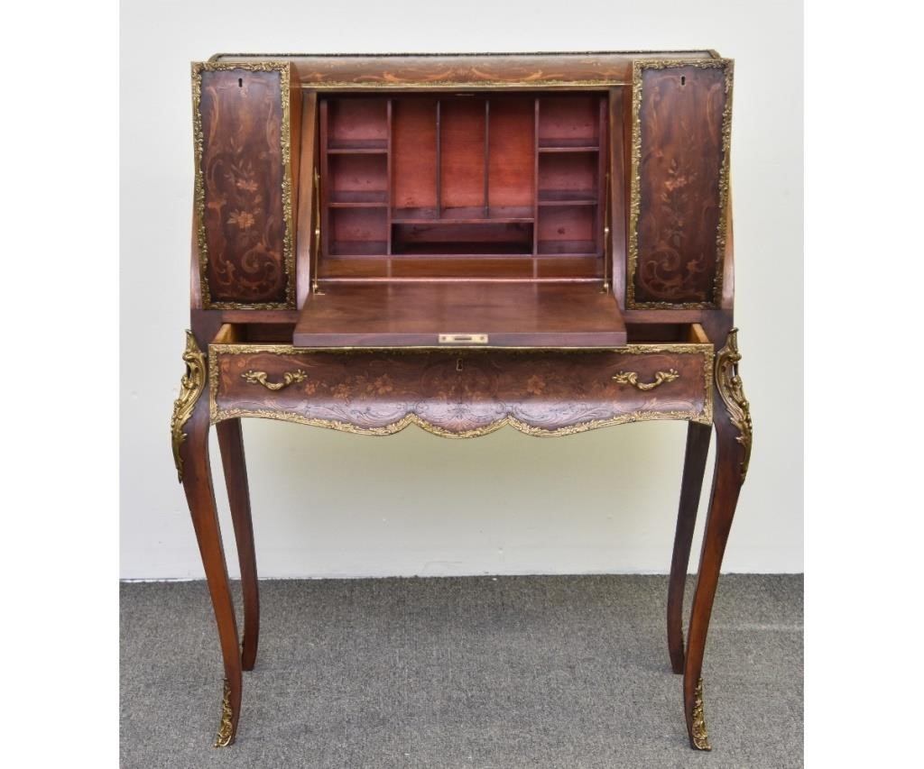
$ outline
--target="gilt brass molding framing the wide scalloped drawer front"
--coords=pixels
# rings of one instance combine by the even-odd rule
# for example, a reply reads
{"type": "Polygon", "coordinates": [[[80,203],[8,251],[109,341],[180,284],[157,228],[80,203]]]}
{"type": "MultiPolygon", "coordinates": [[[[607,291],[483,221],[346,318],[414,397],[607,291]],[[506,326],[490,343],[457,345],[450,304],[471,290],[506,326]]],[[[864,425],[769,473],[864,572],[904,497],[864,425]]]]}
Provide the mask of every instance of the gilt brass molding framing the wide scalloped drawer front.
{"type": "MultiPolygon", "coordinates": [[[[485,348],[453,348],[453,354],[462,350],[476,351],[479,354],[485,354],[485,348]]],[[[358,352],[382,352],[382,348],[374,347],[354,347],[354,348],[310,348],[295,347],[291,344],[210,344],[209,345],[209,417],[211,423],[217,424],[225,419],[238,419],[243,416],[256,417],[261,419],[275,419],[283,422],[294,422],[299,425],[309,425],[311,427],[325,427],[328,429],[339,430],[341,432],[353,433],[355,435],[369,436],[389,436],[395,435],[410,425],[417,425],[433,435],[441,438],[479,438],[488,435],[501,427],[514,427],[519,432],[529,436],[540,438],[554,438],[559,436],[574,435],[576,433],[587,432],[589,430],[599,429],[601,427],[614,427],[616,425],[625,425],[635,422],[646,422],[659,419],[675,419],[688,422],[696,422],[699,425],[712,424],[712,377],[714,370],[714,350],[711,344],[626,344],[622,347],[611,349],[602,348],[549,348],[557,353],[580,354],[580,353],[601,353],[609,352],[616,354],[699,354],[703,356],[703,407],[701,410],[638,410],[626,414],[614,416],[611,419],[594,419],[587,422],[568,425],[565,427],[556,427],[548,429],[545,427],[535,427],[523,422],[515,416],[507,415],[498,419],[491,424],[477,427],[462,432],[452,432],[428,422],[426,419],[416,414],[407,414],[395,422],[384,425],[383,427],[358,427],[349,422],[334,419],[322,419],[298,414],[298,412],[288,411],[286,409],[270,408],[242,408],[239,406],[221,409],[218,407],[218,388],[220,372],[218,368],[218,358],[221,355],[228,354],[254,354],[269,353],[291,360],[295,355],[310,354],[355,354],[358,352]]],[[[546,350],[548,352],[549,350],[546,350]]],[[[400,349],[389,348],[389,354],[446,354],[445,347],[405,347],[400,349]]],[[[505,347],[497,348],[497,352],[517,353],[517,354],[534,354],[541,353],[543,350],[534,347],[514,348],[505,347]]],[[[490,353],[489,353],[490,354],[490,353]]]]}

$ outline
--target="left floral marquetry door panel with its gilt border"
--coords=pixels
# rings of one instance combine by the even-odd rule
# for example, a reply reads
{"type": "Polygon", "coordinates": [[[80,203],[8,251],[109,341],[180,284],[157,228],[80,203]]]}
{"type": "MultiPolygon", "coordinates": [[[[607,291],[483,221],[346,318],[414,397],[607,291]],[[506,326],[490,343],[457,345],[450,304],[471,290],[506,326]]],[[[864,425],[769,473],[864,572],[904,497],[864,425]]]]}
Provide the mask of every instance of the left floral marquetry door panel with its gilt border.
{"type": "Polygon", "coordinates": [[[294,306],[288,65],[194,65],[202,306],[294,306]]]}

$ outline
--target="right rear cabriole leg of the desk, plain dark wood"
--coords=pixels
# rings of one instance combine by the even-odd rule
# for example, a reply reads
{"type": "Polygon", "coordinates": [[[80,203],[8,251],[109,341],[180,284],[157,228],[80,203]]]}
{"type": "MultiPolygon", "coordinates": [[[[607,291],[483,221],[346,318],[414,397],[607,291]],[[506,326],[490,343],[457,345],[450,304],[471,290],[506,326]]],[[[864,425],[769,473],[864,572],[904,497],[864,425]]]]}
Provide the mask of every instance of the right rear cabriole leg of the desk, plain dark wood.
{"type": "Polygon", "coordinates": [[[693,545],[693,530],[696,528],[711,434],[711,425],[690,422],[687,426],[687,455],[680,486],[671,581],[667,588],[667,648],[671,655],[671,668],[675,673],[684,672],[684,588],[687,585],[690,548],[693,545]]]}

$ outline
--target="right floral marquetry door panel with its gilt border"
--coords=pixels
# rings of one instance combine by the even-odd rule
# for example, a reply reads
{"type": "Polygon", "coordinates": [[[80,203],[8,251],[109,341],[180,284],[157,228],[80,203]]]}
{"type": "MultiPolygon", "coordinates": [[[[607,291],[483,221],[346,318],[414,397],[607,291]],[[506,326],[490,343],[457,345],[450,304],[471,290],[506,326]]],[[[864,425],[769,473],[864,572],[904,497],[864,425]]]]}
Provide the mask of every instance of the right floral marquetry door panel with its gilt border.
{"type": "Polygon", "coordinates": [[[722,295],[732,63],[636,62],[627,306],[722,295]]]}

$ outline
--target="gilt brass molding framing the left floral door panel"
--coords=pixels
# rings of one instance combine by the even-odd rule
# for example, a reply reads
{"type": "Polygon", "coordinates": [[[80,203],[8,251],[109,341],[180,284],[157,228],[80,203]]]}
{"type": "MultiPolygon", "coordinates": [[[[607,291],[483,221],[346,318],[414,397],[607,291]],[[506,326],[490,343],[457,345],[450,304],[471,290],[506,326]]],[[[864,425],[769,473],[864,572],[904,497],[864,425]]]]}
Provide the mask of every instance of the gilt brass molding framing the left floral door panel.
{"type": "Polygon", "coordinates": [[[199,251],[199,276],[202,294],[202,309],[295,309],[295,225],[292,214],[292,140],[289,109],[289,63],[284,61],[265,62],[193,62],[192,64],[192,136],[196,163],[196,182],[193,193],[196,212],[196,242],[199,251]],[[282,206],[285,220],[283,232],[283,270],[286,273],[285,302],[213,302],[209,288],[209,249],[205,233],[205,175],[202,170],[202,154],[205,137],[202,133],[201,97],[202,73],[245,69],[250,72],[279,73],[279,102],[282,110],[279,126],[279,145],[283,162],[282,206]]]}

